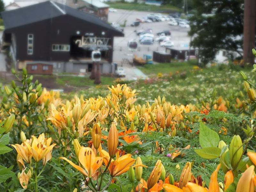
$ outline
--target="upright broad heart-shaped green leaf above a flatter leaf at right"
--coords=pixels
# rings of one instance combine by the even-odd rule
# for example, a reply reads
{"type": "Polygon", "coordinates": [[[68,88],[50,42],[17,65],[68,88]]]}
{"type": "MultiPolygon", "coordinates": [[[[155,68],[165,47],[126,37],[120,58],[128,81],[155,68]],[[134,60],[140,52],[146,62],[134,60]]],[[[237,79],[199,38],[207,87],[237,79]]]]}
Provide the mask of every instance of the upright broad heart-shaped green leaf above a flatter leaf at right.
{"type": "Polygon", "coordinates": [[[216,147],[220,141],[218,133],[208,128],[203,122],[200,122],[199,142],[201,148],[216,147]]]}

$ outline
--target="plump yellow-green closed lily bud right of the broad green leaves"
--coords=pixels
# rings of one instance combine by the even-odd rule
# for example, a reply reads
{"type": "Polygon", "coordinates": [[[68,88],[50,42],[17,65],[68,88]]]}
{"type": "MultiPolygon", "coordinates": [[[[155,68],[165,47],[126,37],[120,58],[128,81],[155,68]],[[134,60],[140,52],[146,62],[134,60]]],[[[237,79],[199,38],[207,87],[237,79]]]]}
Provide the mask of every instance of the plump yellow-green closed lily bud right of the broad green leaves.
{"type": "Polygon", "coordinates": [[[234,135],[229,149],[229,157],[232,167],[235,167],[243,155],[243,143],[239,135],[234,135]]]}

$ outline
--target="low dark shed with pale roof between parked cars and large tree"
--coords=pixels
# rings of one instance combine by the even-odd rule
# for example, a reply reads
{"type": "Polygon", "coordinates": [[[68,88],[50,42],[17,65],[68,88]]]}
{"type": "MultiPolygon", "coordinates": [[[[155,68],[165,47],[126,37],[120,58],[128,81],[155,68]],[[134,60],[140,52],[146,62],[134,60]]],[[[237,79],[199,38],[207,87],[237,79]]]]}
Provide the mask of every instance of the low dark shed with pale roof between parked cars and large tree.
{"type": "Polygon", "coordinates": [[[198,49],[193,47],[167,47],[166,53],[171,54],[172,59],[186,60],[188,56],[198,56],[198,49]]]}

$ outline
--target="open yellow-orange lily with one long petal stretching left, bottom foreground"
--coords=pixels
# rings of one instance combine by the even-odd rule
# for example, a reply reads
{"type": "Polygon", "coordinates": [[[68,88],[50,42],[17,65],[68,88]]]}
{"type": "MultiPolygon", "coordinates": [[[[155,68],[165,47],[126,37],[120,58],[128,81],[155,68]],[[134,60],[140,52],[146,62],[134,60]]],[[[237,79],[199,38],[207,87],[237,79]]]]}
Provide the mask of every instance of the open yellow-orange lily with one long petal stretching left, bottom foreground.
{"type": "Polygon", "coordinates": [[[83,173],[86,177],[97,177],[98,169],[102,164],[102,157],[96,157],[93,150],[89,147],[81,147],[79,150],[78,160],[83,165],[84,169],[72,161],[68,160],[66,157],[60,157],[60,159],[64,159],[69,164],[71,164],[78,171],[83,173]]]}

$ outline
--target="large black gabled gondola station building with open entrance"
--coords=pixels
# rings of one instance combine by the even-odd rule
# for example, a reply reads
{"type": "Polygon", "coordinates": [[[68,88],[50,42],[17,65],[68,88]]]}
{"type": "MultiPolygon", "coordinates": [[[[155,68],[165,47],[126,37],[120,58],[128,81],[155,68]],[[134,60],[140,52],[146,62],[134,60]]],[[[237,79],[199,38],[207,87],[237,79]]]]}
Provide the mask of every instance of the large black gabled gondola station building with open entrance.
{"type": "Polygon", "coordinates": [[[2,17],[3,41],[18,69],[44,61],[56,72],[89,72],[92,51],[100,48],[101,73],[110,73],[114,36],[124,36],[93,14],[52,1],[2,12],[2,17]]]}

